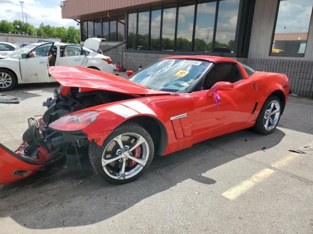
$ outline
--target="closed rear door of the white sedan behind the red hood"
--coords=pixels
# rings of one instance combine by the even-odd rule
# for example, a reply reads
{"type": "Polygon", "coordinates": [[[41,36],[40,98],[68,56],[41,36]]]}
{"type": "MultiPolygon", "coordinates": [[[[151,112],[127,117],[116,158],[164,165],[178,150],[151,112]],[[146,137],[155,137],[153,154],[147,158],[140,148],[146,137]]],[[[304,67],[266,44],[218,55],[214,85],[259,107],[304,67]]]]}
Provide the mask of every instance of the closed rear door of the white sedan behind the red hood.
{"type": "MultiPolygon", "coordinates": [[[[60,48],[61,49],[61,48],[60,48]]],[[[83,48],[78,45],[66,45],[57,59],[58,66],[82,66],[86,63],[83,48]]]]}

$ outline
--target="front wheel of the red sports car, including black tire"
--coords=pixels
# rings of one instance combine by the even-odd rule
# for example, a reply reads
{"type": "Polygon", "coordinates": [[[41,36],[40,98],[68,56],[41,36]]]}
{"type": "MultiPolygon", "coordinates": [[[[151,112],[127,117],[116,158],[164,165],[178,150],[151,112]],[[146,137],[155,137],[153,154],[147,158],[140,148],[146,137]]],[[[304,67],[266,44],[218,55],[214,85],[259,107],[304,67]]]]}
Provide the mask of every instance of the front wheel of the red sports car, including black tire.
{"type": "Polygon", "coordinates": [[[112,184],[124,184],[141,176],[154,156],[150,134],[135,122],[118,126],[102,146],[89,144],[89,159],[95,173],[112,184]]]}

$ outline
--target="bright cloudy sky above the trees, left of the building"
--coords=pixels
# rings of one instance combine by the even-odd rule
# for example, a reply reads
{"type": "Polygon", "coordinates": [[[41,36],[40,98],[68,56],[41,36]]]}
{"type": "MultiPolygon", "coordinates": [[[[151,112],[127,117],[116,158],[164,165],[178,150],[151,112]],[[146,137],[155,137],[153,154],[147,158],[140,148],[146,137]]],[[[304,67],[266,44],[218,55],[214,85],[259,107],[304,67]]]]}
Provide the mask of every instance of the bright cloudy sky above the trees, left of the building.
{"type": "MultiPolygon", "coordinates": [[[[25,13],[27,14],[27,22],[35,27],[43,22],[45,25],[51,26],[74,26],[79,28],[76,21],[62,19],[61,16],[61,0],[22,0],[24,21],[25,13]]],[[[0,20],[22,20],[22,7],[19,0],[0,0],[0,20]]]]}

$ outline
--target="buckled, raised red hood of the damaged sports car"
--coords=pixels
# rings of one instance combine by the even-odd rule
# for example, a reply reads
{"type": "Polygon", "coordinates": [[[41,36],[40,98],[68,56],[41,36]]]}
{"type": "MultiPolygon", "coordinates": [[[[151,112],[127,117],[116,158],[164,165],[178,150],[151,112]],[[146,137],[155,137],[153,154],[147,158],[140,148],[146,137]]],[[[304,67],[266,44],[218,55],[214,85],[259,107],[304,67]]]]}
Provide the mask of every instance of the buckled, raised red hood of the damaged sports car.
{"type": "Polygon", "coordinates": [[[49,74],[64,87],[79,87],[148,96],[170,94],[169,92],[148,89],[126,78],[85,67],[49,67],[49,74]]]}

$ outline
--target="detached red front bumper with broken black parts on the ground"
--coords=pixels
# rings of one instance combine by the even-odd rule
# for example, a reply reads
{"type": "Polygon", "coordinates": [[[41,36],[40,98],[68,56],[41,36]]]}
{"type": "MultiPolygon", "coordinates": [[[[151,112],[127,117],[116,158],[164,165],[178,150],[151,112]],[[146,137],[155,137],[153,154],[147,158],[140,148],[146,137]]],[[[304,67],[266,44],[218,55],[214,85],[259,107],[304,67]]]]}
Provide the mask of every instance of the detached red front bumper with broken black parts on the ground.
{"type": "Polygon", "coordinates": [[[42,119],[28,119],[23,143],[15,152],[0,144],[0,184],[33,175],[38,169],[66,156],[67,151],[70,152],[68,144],[79,143],[79,139],[86,137],[81,133],[69,135],[51,130],[42,119]]]}

